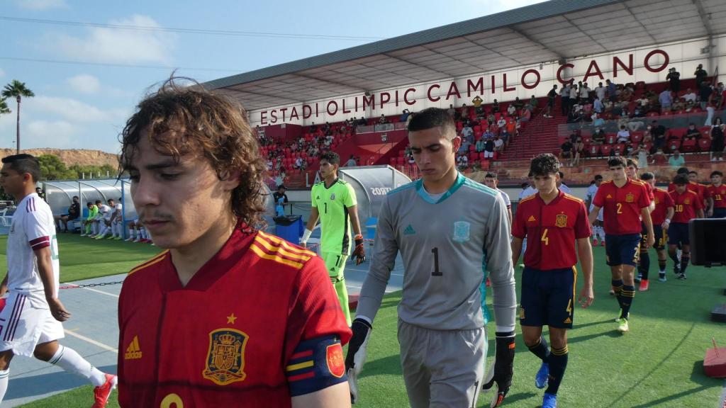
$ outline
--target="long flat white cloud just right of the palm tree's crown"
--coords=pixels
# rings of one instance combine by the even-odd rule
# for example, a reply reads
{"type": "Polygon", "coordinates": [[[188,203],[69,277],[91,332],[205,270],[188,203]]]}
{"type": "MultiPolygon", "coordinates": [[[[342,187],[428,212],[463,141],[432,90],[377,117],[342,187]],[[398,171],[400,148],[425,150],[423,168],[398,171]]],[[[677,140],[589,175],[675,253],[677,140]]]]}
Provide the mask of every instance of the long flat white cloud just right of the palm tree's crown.
{"type": "Polygon", "coordinates": [[[115,122],[123,121],[126,110],[101,110],[71,98],[44,97],[33,98],[33,111],[53,113],[72,122],[115,122]]]}

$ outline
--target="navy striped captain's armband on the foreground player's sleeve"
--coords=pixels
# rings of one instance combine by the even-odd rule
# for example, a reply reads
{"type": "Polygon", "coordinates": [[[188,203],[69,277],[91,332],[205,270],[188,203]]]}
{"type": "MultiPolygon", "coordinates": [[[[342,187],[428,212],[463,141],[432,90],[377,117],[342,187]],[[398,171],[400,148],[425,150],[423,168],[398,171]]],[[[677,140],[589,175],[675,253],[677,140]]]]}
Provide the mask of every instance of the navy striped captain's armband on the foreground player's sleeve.
{"type": "Polygon", "coordinates": [[[343,346],[335,336],[304,340],[293,351],[285,367],[290,395],[314,393],[346,381],[343,346]]]}

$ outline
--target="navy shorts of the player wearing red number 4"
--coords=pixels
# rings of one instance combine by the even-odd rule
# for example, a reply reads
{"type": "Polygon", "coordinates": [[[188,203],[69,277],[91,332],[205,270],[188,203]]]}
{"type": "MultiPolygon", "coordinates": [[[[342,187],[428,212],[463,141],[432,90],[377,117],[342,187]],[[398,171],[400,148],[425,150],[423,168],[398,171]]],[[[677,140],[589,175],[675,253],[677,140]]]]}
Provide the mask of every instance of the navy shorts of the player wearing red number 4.
{"type": "Polygon", "coordinates": [[[540,271],[526,266],[522,272],[520,325],[571,329],[576,281],[574,267],[540,271]]]}

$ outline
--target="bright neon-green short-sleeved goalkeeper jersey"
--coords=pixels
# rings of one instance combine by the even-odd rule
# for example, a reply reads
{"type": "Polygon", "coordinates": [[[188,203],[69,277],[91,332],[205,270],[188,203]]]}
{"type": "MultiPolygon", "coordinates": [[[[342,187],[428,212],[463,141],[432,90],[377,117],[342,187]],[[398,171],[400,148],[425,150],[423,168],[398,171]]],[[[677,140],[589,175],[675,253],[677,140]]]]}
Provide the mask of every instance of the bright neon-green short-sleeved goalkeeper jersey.
{"type": "Polygon", "coordinates": [[[348,208],[357,204],[351,184],[336,179],[330,187],[325,181],[315,183],[311,190],[312,206],[320,216],[320,253],[350,255],[351,221],[348,208]]]}

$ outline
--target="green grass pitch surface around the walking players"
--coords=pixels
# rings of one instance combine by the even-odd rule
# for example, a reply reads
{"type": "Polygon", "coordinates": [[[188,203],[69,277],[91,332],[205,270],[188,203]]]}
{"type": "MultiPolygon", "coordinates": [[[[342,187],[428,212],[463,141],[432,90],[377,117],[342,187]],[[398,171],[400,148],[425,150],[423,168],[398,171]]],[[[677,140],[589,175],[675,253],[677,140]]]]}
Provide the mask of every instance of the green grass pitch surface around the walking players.
{"type": "MultiPolygon", "coordinates": [[[[126,272],[158,252],[150,245],[83,242],[78,236],[60,236],[61,282],[126,272]],[[99,258],[105,261],[99,264],[99,258]]],[[[0,248],[5,248],[4,237],[0,248]]],[[[703,356],[711,337],[726,345],[726,325],[709,319],[714,304],[726,302],[722,294],[726,268],[689,266],[688,280],[678,281],[670,272],[669,261],[668,282],[658,282],[652,250],[650,258],[651,278],[655,275],[656,279],[651,279],[648,292],[635,295],[631,331],[621,335],[613,322],[618,306],[608,295],[610,272],[605,251],[595,248],[595,303],[590,309],[576,309],[575,327],[568,332],[570,358],[558,395],[559,407],[716,406],[724,380],[703,375],[703,356]]],[[[519,279],[521,271],[516,276],[519,279]]],[[[578,286],[581,284],[579,280],[578,286]]],[[[361,402],[357,407],[408,406],[396,340],[399,298],[400,293],[386,296],[376,317],[368,361],[359,380],[361,402]]],[[[487,298],[491,304],[491,291],[487,298]]],[[[489,332],[493,331],[490,324],[489,332]]],[[[490,356],[493,346],[490,336],[490,356]]],[[[538,368],[539,360],[518,338],[513,386],[504,407],[539,407],[542,390],[534,387],[538,368]]],[[[91,388],[86,386],[23,407],[86,407],[90,395],[91,388]]],[[[479,397],[478,407],[489,406],[485,399],[488,396],[479,397]]],[[[108,406],[118,407],[115,393],[108,406]]]]}

